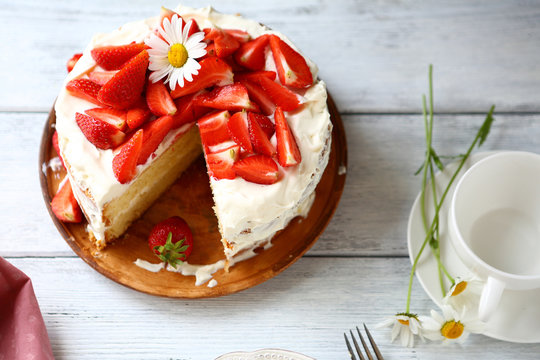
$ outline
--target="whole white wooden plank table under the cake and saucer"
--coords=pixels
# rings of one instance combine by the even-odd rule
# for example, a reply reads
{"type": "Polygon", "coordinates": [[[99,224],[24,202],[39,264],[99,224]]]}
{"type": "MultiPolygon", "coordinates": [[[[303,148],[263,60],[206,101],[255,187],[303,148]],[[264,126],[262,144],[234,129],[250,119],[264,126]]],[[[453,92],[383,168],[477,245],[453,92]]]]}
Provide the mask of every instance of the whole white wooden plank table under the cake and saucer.
{"type": "MultiPolygon", "coordinates": [[[[38,147],[66,60],[92,33],[154,15],[160,5],[0,0],[0,255],[32,278],[57,359],[213,359],[267,347],[347,358],[344,331],[404,308],[429,63],[440,153],[463,151],[491,104],[496,122],[484,150],[540,151],[539,3],[215,2],[288,34],[319,65],[347,131],[343,198],[315,246],[259,286],[192,301],[130,290],[92,270],[56,231],[39,187],[38,147]]],[[[435,307],[417,282],[413,290],[414,311],[435,307]]],[[[540,344],[480,335],[463,347],[411,350],[390,344],[386,330],[373,334],[387,359],[540,356],[540,344]]]]}

